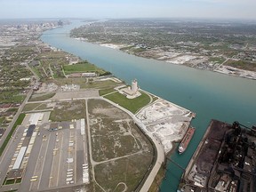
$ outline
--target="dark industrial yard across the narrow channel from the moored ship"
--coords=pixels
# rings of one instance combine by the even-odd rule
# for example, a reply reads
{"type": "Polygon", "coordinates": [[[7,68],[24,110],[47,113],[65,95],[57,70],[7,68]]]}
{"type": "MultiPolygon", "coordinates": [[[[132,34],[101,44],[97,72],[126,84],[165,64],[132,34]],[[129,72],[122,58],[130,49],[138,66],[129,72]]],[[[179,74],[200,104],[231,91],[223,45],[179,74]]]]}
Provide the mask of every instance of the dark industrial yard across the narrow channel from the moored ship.
{"type": "Polygon", "coordinates": [[[255,191],[256,127],[212,120],[183,175],[181,191],[255,191]]]}

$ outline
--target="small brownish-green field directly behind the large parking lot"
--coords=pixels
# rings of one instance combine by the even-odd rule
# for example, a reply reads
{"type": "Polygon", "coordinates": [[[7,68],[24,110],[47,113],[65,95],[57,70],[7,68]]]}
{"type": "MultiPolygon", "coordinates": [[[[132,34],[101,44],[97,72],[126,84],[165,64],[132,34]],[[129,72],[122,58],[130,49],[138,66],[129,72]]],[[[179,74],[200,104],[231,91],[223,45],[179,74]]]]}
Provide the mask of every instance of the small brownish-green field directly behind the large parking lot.
{"type": "Polygon", "coordinates": [[[62,122],[84,117],[84,100],[71,100],[57,103],[51,112],[50,120],[52,120],[52,122],[62,122]]]}

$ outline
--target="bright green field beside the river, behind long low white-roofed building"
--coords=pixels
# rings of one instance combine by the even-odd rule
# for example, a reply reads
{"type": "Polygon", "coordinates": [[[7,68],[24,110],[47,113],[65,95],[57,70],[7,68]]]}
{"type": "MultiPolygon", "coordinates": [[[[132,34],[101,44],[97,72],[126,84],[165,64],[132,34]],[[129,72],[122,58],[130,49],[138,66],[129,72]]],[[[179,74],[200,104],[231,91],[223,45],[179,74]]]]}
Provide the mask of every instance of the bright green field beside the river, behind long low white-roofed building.
{"type": "Polygon", "coordinates": [[[64,65],[63,66],[65,74],[72,74],[72,73],[82,73],[82,72],[95,72],[99,75],[106,73],[105,70],[96,67],[95,65],[88,63],[87,61],[80,62],[74,65],[64,65]]]}

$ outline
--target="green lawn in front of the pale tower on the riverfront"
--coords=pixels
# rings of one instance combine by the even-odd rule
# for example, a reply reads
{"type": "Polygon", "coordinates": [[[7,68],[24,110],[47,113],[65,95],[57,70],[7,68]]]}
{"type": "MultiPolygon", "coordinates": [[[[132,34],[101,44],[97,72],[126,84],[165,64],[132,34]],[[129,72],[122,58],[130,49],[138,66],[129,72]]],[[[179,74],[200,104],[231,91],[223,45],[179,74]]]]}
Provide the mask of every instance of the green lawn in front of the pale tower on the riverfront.
{"type": "Polygon", "coordinates": [[[112,100],[113,102],[119,104],[123,108],[128,109],[133,114],[135,114],[140,108],[143,108],[150,102],[148,94],[141,92],[140,97],[135,99],[127,99],[123,94],[119,92],[114,92],[105,96],[106,99],[112,100]]]}

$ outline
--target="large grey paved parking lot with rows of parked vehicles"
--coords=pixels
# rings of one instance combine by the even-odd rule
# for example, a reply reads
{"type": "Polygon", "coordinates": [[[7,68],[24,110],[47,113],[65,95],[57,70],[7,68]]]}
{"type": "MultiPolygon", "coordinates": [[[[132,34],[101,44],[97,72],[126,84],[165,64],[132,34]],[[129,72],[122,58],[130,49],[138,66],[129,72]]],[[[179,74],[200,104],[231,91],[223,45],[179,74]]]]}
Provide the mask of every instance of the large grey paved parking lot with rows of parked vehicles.
{"type": "MultiPolygon", "coordinates": [[[[10,158],[12,157],[13,161],[11,164],[16,160],[13,156],[17,156],[21,143],[24,145],[24,140],[27,140],[24,135],[27,131],[26,127],[31,123],[29,116],[32,114],[25,117],[23,125],[13,138],[12,142],[16,148],[12,147],[13,152],[10,158]]],[[[29,153],[27,150],[20,165],[20,167],[24,166],[24,172],[22,182],[19,186],[16,185],[19,191],[42,191],[50,188],[80,186],[84,183],[83,167],[85,164],[88,166],[86,136],[84,132],[81,132],[81,121],[84,119],[54,123],[56,129],[49,131],[52,123],[48,123],[48,117],[49,114],[44,113],[44,117],[40,119],[32,133],[36,138],[30,140],[29,144],[33,147],[29,153]]],[[[9,170],[2,168],[1,170],[6,173],[12,170],[10,162],[3,163],[9,167],[9,170]]],[[[1,176],[4,172],[1,172],[1,176]]],[[[7,187],[4,186],[4,188],[7,187]]],[[[9,189],[11,189],[10,186],[9,189]]]]}

